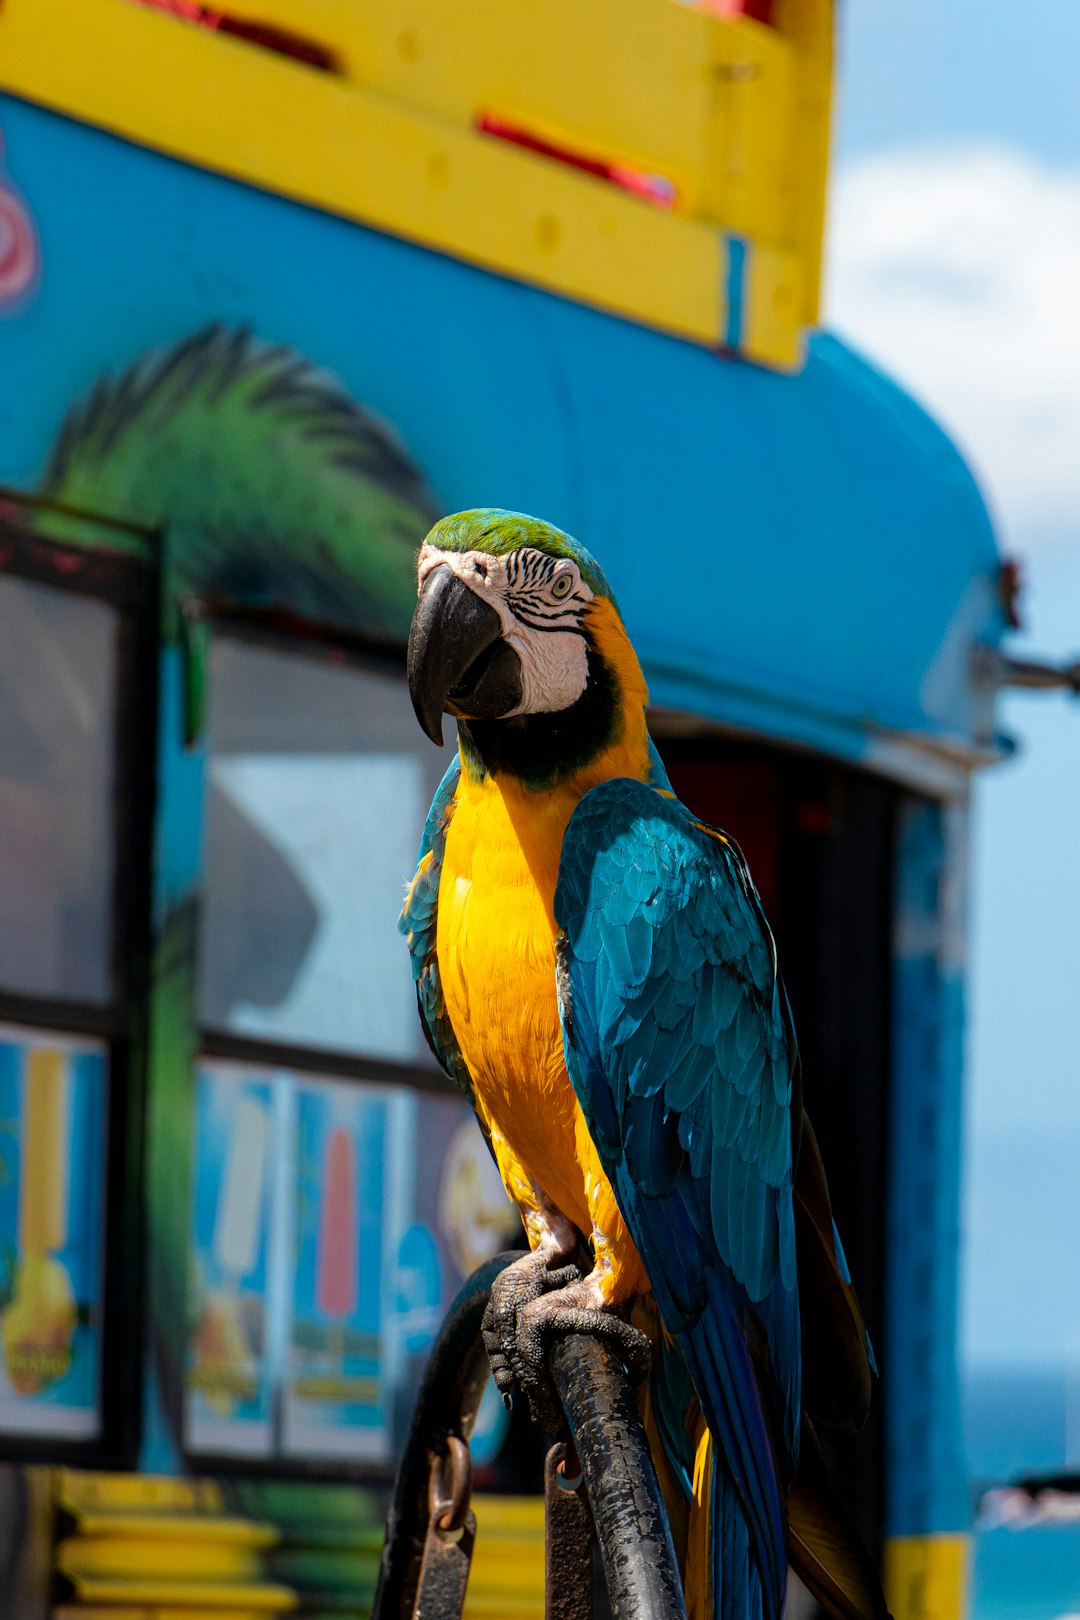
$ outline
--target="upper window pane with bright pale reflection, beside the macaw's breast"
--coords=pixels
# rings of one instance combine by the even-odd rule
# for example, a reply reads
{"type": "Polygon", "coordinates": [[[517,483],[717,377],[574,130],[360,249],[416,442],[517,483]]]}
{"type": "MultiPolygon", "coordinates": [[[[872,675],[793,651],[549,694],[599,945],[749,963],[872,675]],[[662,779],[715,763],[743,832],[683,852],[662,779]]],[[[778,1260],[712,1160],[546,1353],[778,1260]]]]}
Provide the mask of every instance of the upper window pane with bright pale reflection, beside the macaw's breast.
{"type": "Polygon", "coordinates": [[[402,674],[215,640],[206,1027],[427,1061],[397,917],[445,765],[402,674]]]}

